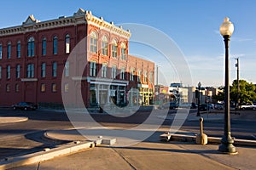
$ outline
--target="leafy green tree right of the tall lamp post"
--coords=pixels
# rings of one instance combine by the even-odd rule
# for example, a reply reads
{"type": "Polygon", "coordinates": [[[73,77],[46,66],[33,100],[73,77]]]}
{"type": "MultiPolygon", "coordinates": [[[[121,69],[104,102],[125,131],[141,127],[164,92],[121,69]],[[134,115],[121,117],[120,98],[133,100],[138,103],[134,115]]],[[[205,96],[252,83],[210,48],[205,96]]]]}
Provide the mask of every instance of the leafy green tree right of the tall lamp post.
{"type": "MultiPolygon", "coordinates": [[[[239,80],[239,99],[240,104],[253,103],[256,100],[255,85],[252,82],[239,80]]],[[[237,99],[237,80],[232,82],[230,87],[230,99],[236,101],[237,99]]]]}

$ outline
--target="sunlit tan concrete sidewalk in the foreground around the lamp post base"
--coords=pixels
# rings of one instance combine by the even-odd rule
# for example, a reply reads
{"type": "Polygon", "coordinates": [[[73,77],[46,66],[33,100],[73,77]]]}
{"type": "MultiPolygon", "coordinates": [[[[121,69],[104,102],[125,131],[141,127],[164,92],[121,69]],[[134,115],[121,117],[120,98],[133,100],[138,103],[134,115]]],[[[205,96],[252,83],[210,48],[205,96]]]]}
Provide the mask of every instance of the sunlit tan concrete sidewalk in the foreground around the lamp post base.
{"type": "Polygon", "coordinates": [[[236,147],[236,156],[218,152],[218,145],[142,142],[129,147],[96,147],[32,165],[29,169],[255,169],[255,148],[236,147]]]}

